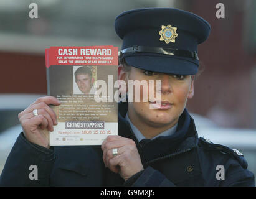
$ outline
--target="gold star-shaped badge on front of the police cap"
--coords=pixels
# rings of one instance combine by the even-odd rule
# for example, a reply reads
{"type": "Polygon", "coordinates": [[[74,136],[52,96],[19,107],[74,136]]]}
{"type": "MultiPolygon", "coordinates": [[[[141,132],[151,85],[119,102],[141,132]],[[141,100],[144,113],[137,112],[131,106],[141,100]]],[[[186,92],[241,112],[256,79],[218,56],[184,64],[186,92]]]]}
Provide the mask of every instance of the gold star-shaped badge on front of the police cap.
{"type": "Polygon", "coordinates": [[[175,38],[178,37],[176,30],[177,27],[171,27],[171,25],[162,25],[162,30],[159,31],[159,35],[161,35],[160,41],[164,40],[166,44],[169,44],[169,42],[175,43],[175,38]]]}

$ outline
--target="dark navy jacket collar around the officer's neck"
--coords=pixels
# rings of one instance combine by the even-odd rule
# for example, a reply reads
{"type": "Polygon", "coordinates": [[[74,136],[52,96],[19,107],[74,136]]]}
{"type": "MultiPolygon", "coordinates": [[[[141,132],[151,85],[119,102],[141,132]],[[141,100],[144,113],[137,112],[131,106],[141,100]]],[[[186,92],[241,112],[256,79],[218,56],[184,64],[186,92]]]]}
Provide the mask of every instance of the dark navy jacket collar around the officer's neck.
{"type": "Polygon", "coordinates": [[[128,111],[128,103],[118,103],[118,134],[123,137],[133,139],[135,141],[137,149],[140,149],[141,161],[146,162],[148,160],[155,159],[168,154],[181,152],[183,150],[195,148],[198,143],[198,136],[194,120],[189,116],[189,113],[184,109],[183,113],[179,117],[178,127],[175,134],[171,136],[160,136],[146,143],[144,146],[140,146],[130,124],[125,119],[125,114],[128,111]]]}

